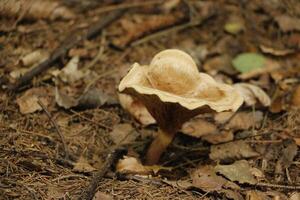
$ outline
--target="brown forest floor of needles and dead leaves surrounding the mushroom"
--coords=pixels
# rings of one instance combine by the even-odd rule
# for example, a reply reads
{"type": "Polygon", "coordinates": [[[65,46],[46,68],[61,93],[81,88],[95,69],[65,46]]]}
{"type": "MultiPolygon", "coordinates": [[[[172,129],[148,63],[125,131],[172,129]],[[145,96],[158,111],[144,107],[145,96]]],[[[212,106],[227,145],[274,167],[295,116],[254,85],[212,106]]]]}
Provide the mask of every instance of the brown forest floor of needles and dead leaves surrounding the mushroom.
{"type": "Polygon", "coordinates": [[[4,0],[0,199],[298,200],[299,50],[298,0],[4,0]],[[117,88],[165,49],[247,99],[191,119],[145,167],[158,126],[117,88]]]}

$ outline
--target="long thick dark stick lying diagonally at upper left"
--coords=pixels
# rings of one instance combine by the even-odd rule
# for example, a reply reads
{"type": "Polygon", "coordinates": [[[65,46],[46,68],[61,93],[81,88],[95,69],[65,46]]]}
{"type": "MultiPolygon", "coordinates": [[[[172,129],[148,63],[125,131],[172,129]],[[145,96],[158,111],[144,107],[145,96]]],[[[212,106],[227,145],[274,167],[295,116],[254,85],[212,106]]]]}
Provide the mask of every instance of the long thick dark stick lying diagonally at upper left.
{"type": "Polygon", "coordinates": [[[53,66],[53,64],[62,56],[64,56],[69,49],[77,45],[79,42],[90,39],[98,34],[103,28],[108,26],[114,20],[118,19],[124,13],[123,10],[116,10],[114,12],[109,13],[107,16],[100,18],[98,22],[92,24],[89,28],[87,33],[82,33],[81,35],[73,35],[72,37],[67,37],[64,42],[56,48],[53,53],[50,55],[48,59],[40,63],[38,66],[24,74],[17,83],[12,86],[10,89],[12,91],[18,90],[20,87],[28,84],[35,76],[39,75],[40,73],[48,70],[53,66]]]}

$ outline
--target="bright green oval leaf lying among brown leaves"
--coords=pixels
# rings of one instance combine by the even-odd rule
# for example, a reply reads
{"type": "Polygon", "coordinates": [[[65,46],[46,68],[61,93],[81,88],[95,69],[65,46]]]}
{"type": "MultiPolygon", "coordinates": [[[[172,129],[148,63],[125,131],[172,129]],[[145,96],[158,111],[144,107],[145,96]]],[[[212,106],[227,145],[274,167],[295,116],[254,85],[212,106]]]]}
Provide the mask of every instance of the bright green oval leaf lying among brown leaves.
{"type": "Polygon", "coordinates": [[[255,69],[263,68],[265,57],[256,53],[242,53],[232,60],[233,67],[242,73],[247,73],[255,69]]]}

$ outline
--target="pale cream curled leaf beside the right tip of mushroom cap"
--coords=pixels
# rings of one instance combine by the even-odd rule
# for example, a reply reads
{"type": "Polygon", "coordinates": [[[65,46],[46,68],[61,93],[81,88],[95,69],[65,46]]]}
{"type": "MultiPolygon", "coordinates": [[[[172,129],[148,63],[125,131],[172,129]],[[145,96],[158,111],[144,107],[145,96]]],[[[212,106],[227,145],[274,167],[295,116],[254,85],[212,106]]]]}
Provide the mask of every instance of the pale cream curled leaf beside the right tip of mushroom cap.
{"type": "Polygon", "coordinates": [[[258,86],[249,83],[236,83],[233,85],[243,96],[247,106],[255,105],[257,102],[263,106],[270,106],[270,97],[258,86]]]}

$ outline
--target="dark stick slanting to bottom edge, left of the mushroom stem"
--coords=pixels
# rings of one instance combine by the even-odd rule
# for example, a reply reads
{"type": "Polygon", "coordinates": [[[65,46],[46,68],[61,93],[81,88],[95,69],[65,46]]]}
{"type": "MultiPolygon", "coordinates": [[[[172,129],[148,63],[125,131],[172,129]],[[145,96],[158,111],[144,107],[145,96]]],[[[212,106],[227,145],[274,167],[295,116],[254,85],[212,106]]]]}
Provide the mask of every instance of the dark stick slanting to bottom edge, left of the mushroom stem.
{"type": "Polygon", "coordinates": [[[109,170],[111,165],[115,162],[115,160],[122,154],[123,149],[113,149],[110,153],[108,153],[106,157],[106,161],[103,164],[102,168],[96,172],[89,186],[83,191],[78,200],[92,200],[96,189],[99,186],[101,179],[104,177],[106,172],[109,170]]]}

